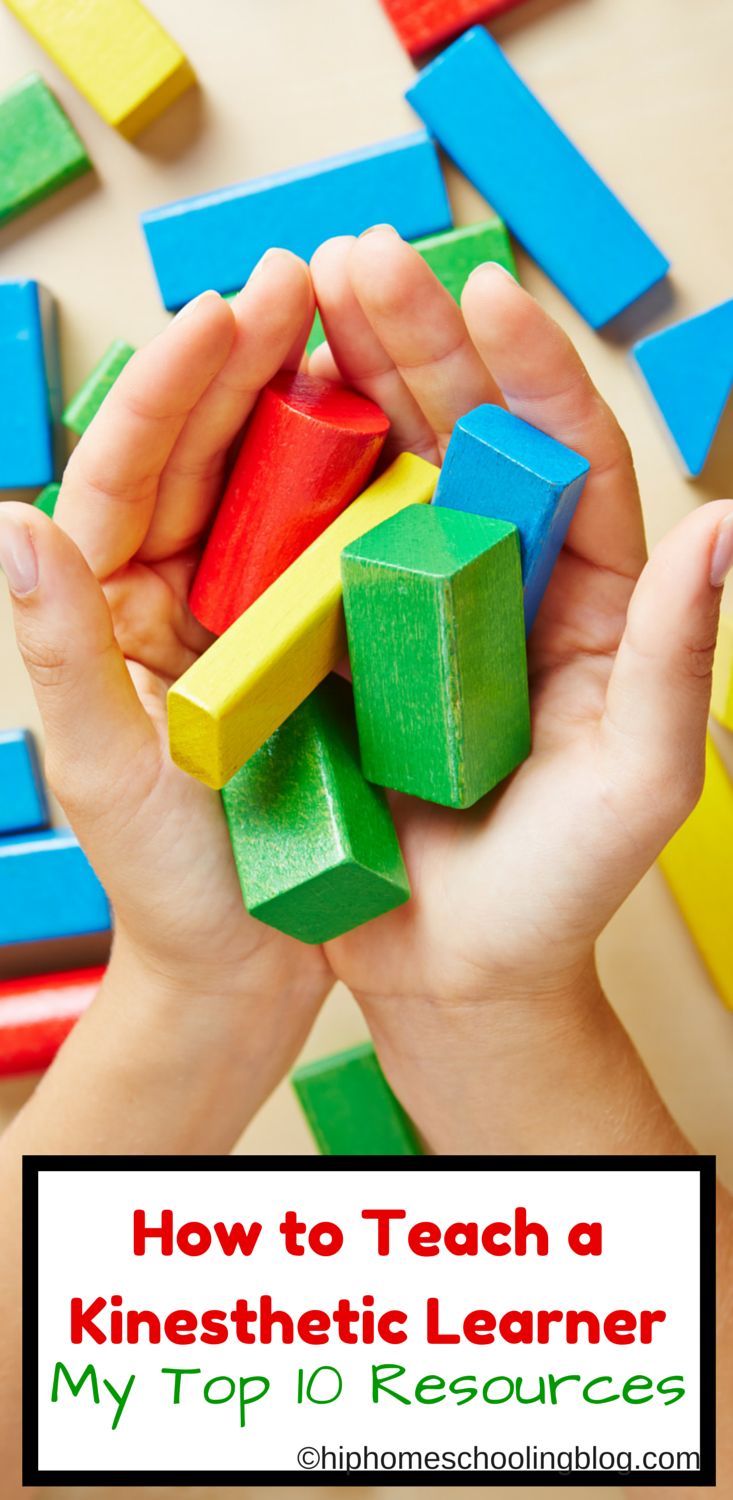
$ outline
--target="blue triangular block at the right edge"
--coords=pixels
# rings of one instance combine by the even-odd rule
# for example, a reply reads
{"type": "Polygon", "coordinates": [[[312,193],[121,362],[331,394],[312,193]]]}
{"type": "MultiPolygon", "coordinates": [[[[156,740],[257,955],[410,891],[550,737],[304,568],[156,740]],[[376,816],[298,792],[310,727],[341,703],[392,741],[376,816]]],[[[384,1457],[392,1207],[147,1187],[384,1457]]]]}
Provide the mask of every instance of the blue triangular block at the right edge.
{"type": "Polygon", "coordinates": [[[733,387],[733,297],[652,333],[634,358],[690,474],[699,474],[733,387]]]}

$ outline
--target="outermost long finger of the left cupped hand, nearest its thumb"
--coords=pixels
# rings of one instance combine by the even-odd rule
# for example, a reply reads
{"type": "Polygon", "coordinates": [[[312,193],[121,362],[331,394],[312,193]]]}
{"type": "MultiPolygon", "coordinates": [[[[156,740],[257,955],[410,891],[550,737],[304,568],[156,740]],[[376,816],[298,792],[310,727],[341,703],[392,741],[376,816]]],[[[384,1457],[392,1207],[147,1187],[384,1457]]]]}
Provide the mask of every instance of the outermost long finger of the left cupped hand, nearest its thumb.
{"type": "Polygon", "coordinates": [[[66,466],[54,519],[97,578],[141,546],[160,474],[190,411],[225,364],[235,324],[217,292],[189,303],[133,354],[66,466]]]}

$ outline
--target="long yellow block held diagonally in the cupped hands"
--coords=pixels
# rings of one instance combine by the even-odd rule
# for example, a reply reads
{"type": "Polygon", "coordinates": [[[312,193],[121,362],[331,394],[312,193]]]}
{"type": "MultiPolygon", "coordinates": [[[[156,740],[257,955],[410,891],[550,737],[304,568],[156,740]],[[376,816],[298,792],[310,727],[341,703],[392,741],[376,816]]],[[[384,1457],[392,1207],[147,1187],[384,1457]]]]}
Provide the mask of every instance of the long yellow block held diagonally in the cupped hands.
{"type": "Polygon", "coordinates": [[[403,453],[178,678],[168,693],[175,765],[225,786],[318,687],[346,651],[343,548],[427,504],[436,482],[433,464],[403,453]]]}

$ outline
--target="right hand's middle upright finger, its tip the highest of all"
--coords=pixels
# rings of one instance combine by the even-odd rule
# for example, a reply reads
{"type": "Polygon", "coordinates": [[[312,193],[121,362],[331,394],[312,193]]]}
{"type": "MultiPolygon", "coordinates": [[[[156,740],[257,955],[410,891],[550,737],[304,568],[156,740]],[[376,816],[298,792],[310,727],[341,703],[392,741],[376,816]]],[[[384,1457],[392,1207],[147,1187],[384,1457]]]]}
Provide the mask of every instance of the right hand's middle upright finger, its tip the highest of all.
{"type": "Polygon", "coordinates": [[[390,228],[355,240],[349,274],[379,344],[445,452],[459,417],[484,400],[502,400],[460,309],[421,255],[390,228]]]}

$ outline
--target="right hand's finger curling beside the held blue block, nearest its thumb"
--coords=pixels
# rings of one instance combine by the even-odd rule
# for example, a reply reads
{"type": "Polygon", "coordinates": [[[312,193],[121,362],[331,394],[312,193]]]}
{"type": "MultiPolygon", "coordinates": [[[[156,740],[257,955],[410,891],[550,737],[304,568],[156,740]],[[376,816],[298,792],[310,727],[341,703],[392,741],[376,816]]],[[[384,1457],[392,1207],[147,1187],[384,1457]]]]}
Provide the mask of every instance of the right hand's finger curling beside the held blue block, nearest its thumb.
{"type": "Polygon", "coordinates": [[[597,567],[637,578],[646,554],[630,447],[577,350],[499,266],[469,276],[462,309],[510,411],[591,464],[567,546],[597,567]]]}

